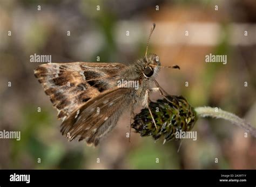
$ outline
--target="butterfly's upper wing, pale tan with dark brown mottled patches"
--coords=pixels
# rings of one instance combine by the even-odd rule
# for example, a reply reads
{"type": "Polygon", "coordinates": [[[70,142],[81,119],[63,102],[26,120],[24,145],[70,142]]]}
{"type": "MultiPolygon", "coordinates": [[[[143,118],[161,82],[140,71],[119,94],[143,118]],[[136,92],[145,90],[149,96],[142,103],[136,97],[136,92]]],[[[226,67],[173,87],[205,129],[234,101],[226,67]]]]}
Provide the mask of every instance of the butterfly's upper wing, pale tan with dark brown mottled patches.
{"type": "Polygon", "coordinates": [[[88,100],[115,88],[125,67],[121,63],[47,63],[34,73],[57,108],[58,118],[65,120],[88,100]]]}

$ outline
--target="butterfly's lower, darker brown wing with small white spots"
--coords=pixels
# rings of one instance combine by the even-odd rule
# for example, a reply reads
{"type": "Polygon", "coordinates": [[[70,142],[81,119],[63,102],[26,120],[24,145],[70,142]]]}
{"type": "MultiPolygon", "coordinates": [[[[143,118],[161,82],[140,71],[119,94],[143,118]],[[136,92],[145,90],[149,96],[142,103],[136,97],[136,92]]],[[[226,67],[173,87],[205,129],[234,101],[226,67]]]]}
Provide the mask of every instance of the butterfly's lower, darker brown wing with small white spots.
{"type": "Polygon", "coordinates": [[[85,139],[89,145],[97,146],[99,140],[116,125],[123,110],[129,109],[130,101],[131,89],[128,88],[100,93],[70,114],[63,121],[61,132],[70,141],[74,138],[79,138],[79,141],[85,139]]]}

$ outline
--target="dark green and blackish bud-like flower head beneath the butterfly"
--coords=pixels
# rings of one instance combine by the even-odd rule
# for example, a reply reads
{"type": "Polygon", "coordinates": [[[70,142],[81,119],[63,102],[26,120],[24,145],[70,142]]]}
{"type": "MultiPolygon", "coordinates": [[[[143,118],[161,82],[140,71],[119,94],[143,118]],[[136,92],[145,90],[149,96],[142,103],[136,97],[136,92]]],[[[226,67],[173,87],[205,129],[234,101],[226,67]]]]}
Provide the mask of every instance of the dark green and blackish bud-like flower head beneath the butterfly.
{"type": "Polygon", "coordinates": [[[163,137],[170,141],[177,131],[191,131],[197,120],[196,112],[183,96],[166,96],[150,103],[150,109],[156,120],[153,123],[148,109],[142,109],[134,117],[132,128],[141,136],[152,136],[154,140],[163,137]]]}

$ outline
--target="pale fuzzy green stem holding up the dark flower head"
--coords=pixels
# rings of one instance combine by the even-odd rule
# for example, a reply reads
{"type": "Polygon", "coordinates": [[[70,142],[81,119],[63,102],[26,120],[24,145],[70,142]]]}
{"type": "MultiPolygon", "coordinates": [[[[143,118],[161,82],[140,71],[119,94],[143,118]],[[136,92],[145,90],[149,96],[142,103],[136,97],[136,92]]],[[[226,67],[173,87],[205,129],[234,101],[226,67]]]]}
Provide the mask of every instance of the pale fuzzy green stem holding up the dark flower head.
{"type": "Polygon", "coordinates": [[[196,107],[194,109],[199,117],[212,117],[212,118],[221,118],[230,121],[232,124],[238,125],[243,128],[248,133],[252,134],[256,137],[256,128],[252,127],[250,124],[246,123],[244,119],[235,116],[235,114],[223,111],[221,109],[204,106],[204,107],[196,107]]]}

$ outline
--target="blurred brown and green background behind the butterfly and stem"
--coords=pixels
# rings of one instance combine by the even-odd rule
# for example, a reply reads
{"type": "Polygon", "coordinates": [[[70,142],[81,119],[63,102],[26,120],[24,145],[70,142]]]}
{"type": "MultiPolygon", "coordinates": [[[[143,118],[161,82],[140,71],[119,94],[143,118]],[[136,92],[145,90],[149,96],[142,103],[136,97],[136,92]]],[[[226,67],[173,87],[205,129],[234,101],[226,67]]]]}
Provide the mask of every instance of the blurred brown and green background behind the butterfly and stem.
{"type": "Polygon", "coordinates": [[[255,127],[256,1],[1,0],[0,131],[21,131],[21,140],[0,139],[0,168],[256,169],[256,139],[221,119],[199,119],[197,141],[184,140],[179,152],[178,141],[163,145],[132,133],[129,142],[128,111],[97,148],[60,134],[57,111],[33,75],[40,63],[30,55],[130,64],[145,54],[152,23],[149,52],[181,68],[162,69],[161,87],[255,127]],[[227,55],[227,64],[206,63],[210,53],[227,55]]]}

